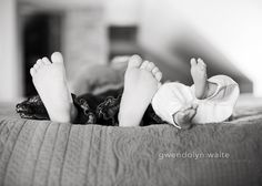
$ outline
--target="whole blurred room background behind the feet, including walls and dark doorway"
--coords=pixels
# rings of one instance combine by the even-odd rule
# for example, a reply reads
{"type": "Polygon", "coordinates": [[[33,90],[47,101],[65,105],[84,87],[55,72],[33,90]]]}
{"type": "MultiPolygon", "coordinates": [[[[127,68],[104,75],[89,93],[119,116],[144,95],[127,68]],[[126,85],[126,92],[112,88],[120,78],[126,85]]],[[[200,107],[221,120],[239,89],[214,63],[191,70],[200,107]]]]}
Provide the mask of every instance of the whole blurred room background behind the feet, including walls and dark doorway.
{"type": "Polygon", "coordinates": [[[69,81],[83,66],[138,53],[164,81],[191,84],[192,56],[262,96],[260,0],[0,0],[0,101],[36,94],[37,59],[64,55],[69,81]]]}

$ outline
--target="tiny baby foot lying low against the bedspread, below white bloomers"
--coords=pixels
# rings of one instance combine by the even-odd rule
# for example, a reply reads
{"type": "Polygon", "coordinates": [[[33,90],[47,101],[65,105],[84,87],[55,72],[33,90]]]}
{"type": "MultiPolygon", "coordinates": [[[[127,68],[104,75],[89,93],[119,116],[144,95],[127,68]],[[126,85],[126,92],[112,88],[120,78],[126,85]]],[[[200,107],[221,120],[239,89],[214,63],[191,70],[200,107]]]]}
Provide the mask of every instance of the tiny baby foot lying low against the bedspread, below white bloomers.
{"type": "Polygon", "coordinates": [[[174,122],[183,130],[189,128],[192,124],[191,120],[196,113],[196,107],[195,104],[185,105],[181,111],[173,115],[174,122]]]}

